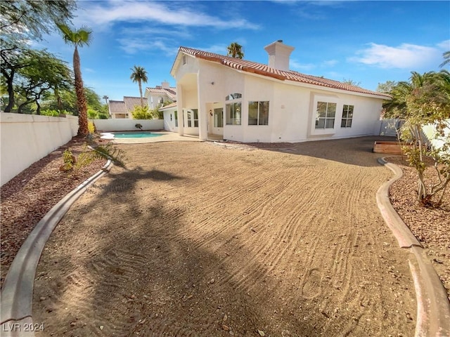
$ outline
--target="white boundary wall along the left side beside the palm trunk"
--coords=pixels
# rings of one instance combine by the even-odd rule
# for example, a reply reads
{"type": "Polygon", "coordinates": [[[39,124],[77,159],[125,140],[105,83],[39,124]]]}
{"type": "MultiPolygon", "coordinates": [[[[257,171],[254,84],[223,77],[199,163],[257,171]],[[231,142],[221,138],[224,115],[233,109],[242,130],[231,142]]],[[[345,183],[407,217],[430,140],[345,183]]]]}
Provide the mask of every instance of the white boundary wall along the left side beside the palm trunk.
{"type": "Polygon", "coordinates": [[[1,185],[77,135],[78,117],[0,112],[1,185]]]}

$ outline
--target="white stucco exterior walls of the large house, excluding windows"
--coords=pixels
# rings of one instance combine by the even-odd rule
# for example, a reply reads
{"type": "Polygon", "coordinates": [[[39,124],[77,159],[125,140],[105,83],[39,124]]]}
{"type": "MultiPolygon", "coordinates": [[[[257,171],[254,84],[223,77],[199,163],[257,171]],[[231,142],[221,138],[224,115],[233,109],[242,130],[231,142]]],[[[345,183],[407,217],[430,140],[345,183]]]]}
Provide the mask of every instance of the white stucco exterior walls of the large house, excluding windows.
{"type": "Polygon", "coordinates": [[[281,81],[190,56],[186,56],[186,61],[186,65],[179,65],[174,76],[183,88],[180,106],[199,111],[200,138],[205,137],[208,123],[208,131],[214,132],[209,111],[217,105],[224,107],[224,139],[245,143],[302,142],[369,136],[375,134],[375,127],[379,126],[382,98],[281,81]],[[241,125],[226,125],[225,106],[230,102],[225,97],[231,93],[242,94],[241,125]],[[334,128],[320,130],[315,128],[316,107],[317,102],[324,100],[336,103],[335,124],[334,128]],[[269,125],[248,125],[250,101],[269,101],[269,125]],[[341,128],[344,105],[354,106],[350,128],[341,128]],[[205,126],[203,131],[202,125],[205,126]]]}

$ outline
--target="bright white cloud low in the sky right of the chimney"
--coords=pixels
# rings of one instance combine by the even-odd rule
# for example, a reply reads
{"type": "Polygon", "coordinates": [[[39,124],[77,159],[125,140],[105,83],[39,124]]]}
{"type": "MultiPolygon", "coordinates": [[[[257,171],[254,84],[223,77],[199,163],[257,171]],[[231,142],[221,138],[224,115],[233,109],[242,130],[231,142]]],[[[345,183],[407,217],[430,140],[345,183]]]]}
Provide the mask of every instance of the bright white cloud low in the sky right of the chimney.
{"type": "Polygon", "coordinates": [[[368,48],[356,52],[350,61],[374,65],[380,68],[414,69],[438,65],[442,59],[442,44],[435,47],[401,44],[397,47],[384,44],[368,44],[368,48]]]}

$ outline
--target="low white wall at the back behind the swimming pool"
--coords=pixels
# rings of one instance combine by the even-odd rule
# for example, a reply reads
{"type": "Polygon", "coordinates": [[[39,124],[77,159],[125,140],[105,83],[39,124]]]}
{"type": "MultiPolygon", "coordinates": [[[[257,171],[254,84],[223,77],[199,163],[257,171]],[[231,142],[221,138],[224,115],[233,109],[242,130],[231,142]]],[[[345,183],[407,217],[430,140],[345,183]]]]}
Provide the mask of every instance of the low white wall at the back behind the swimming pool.
{"type": "Polygon", "coordinates": [[[136,124],[141,124],[142,129],[163,130],[163,119],[91,119],[98,131],[138,131],[136,124]]]}

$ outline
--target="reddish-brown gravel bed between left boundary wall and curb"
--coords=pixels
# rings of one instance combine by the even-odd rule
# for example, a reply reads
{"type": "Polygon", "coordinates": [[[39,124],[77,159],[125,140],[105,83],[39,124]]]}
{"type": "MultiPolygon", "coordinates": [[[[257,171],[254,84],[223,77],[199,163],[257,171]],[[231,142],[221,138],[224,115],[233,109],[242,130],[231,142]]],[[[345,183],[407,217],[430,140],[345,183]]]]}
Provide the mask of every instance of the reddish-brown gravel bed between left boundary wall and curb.
{"type": "Polygon", "coordinates": [[[72,138],[1,187],[2,287],[16,253],[39,220],[60,199],[105,165],[106,161],[101,159],[76,173],[60,171],[66,149],[70,149],[75,157],[87,150],[82,138],[72,138]]]}

